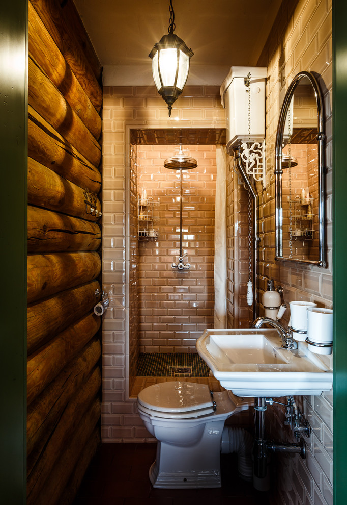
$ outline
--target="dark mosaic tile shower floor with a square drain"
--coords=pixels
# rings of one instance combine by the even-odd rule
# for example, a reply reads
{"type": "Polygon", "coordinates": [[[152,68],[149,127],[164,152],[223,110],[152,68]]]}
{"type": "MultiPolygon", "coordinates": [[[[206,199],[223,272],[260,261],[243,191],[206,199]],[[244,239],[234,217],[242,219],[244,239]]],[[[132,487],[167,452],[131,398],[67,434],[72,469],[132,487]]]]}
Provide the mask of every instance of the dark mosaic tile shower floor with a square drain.
{"type": "Polygon", "coordinates": [[[209,367],[198,354],[140,353],[138,377],[208,377],[209,367]]]}

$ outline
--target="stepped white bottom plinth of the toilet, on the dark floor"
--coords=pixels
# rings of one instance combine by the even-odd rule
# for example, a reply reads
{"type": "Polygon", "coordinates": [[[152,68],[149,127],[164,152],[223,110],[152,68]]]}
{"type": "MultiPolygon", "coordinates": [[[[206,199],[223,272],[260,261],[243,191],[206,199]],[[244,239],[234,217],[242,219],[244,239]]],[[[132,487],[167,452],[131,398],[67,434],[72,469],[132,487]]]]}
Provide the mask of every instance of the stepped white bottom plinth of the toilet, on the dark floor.
{"type": "Polygon", "coordinates": [[[191,472],[159,472],[157,461],[149,471],[150,481],[154,488],[183,489],[183,488],[220,488],[220,471],[191,471],[191,472]]]}

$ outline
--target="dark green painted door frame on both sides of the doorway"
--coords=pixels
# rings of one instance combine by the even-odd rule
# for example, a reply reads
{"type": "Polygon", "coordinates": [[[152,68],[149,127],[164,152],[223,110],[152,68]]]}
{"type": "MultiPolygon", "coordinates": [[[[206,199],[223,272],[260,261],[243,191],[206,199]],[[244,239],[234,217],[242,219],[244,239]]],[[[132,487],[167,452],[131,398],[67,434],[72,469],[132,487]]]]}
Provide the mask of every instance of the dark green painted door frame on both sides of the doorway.
{"type": "MultiPolygon", "coordinates": [[[[25,504],[27,4],[0,15],[0,501],[25,504]]],[[[334,505],[347,496],[347,3],[333,0],[334,505]]]]}

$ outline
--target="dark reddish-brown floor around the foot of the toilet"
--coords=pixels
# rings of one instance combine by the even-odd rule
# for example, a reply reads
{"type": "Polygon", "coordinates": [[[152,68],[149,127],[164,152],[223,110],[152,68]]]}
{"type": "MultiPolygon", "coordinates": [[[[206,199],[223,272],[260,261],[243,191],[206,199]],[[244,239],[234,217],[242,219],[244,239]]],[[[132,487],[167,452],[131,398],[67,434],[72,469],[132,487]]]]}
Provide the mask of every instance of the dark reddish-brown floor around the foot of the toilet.
{"type": "Polygon", "coordinates": [[[269,505],[236,470],[236,454],[221,454],[222,487],[154,489],[148,470],[156,444],[102,444],[73,505],[269,505]]]}

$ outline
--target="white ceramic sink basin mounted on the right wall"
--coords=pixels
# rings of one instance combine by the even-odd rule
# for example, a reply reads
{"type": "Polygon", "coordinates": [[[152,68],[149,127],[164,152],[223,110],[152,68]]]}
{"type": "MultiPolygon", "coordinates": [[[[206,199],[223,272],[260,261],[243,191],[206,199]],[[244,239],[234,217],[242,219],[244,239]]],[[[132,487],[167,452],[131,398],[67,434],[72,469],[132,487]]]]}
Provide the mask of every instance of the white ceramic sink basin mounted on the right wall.
{"type": "Polygon", "coordinates": [[[237,396],[319,395],[333,385],[320,357],[298,342],[283,349],[274,329],[205,330],[196,342],[201,358],[225,389],[237,396]]]}

